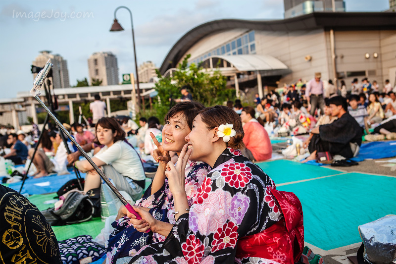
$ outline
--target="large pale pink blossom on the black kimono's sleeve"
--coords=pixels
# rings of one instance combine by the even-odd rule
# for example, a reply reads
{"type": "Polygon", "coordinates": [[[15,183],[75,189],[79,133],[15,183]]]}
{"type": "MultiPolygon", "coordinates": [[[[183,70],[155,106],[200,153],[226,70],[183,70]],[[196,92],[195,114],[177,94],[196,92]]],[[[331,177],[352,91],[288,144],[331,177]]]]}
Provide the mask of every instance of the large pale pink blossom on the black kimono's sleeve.
{"type": "Polygon", "coordinates": [[[200,234],[215,233],[218,228],[223,226],[229,218],[231,199],[229,192],[216,189],[216,191],[208,194],[208,198],[202,204],[194,206],[194,212],[198,216],[198,231],[200,234]]]}

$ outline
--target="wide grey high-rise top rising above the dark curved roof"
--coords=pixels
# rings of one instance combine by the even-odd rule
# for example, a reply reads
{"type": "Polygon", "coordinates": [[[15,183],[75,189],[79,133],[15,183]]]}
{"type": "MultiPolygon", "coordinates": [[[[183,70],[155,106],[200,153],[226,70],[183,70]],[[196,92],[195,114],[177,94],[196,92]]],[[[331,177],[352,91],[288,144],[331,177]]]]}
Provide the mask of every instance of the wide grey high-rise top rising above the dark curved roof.
{"type": "MultiPolygon", "coordinates": [[[[332,12],[333,0],[283,0],[285,18],[309,14],[312,12],[332,12]]],[[[345,2],[334,0],[335,11],[345,12],[345,2]]]]}

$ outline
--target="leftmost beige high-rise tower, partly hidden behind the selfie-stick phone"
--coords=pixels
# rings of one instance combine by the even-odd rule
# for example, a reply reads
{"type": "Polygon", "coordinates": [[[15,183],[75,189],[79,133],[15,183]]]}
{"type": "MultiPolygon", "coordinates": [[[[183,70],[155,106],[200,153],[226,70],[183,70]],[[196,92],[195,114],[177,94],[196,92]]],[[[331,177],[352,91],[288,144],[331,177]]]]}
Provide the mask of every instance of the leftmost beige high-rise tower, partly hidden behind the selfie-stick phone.
{"type": "MultiPolygon", "coordinates": [[[[32,62],[34,66],[44,67],[48,59],[51,59],[52,67],[52,85],[53,88],[68,88],[70,87],[69,82],[69,71],[67,70],[67,62],[59,54],[51,54],[50,51],[42,51],[40,55],[36,57],[36,60],[32,62]]],[[[37,73],[33,74],[33,79],[36,78],[37,73]]]]}

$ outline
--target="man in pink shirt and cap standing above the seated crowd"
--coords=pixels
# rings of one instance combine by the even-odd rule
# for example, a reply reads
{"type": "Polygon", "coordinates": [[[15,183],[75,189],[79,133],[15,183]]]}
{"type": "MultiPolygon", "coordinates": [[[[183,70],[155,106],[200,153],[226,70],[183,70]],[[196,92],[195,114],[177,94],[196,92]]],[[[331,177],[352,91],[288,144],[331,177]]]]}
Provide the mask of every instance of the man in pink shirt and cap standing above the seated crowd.
{"type": "Polygon", "coordinates": [[[320,79],[321,73],[315,72],[315,78],[306,84],[305,96],[308,103],[311,104],[311,115],[315,114],[316,108],[320,108],[320,114],[324,113],[325,100],[323,99],[323,81],[320,79]]]}

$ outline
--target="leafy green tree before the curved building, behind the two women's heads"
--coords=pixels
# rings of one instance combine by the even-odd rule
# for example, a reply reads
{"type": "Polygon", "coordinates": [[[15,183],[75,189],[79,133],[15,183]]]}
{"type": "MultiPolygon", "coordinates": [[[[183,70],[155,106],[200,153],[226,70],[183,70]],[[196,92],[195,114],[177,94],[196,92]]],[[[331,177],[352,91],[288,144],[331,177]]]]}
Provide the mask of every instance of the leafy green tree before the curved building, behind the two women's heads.
{"type": "Polygon", "coordinates": [[[154,104],[154,108],[160,120],[174,105],[169,98],[181,97],[180,89],[184,85],[191,87],[190,93],[194,100],[204,106],[222,105],[224,101],[235,99],[235,90],[226,88],[227,79],[221,75],[219,69],[208,72],[200,64],[188,65],[190,56],[188,54],[183,59],[177,70],[172,72],[172,77],[162,77],[157,71],[159,81],[155,84],[155,90],[158,92],[159,101],[154,104]]]}

